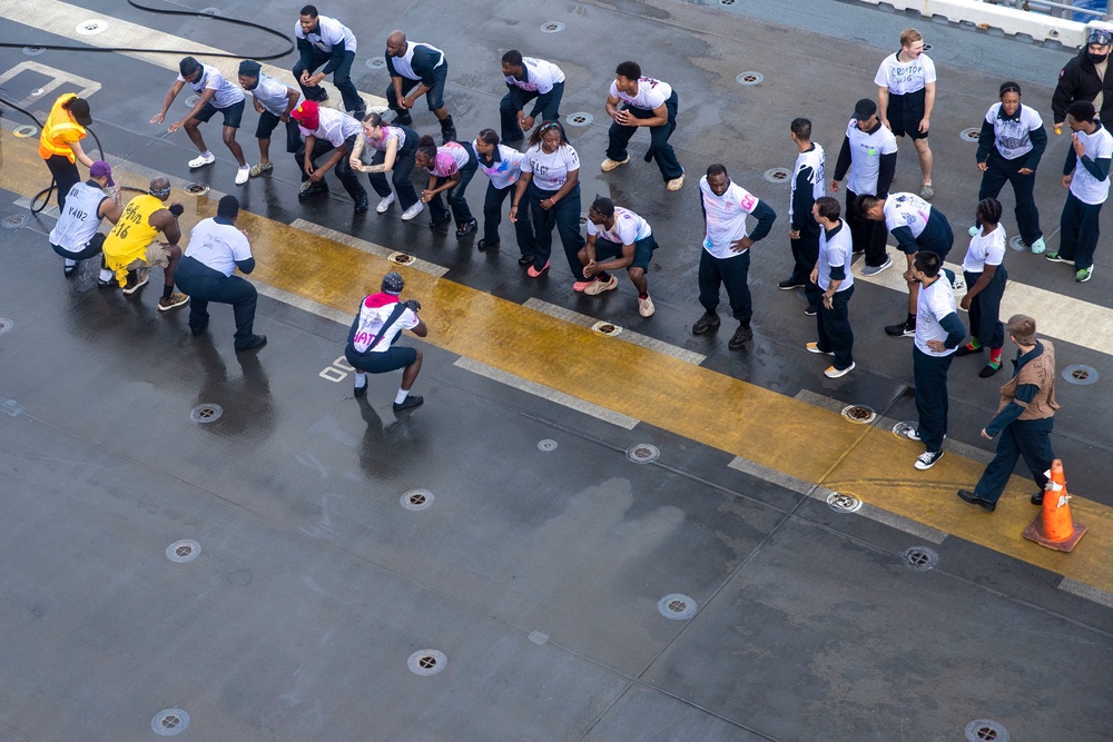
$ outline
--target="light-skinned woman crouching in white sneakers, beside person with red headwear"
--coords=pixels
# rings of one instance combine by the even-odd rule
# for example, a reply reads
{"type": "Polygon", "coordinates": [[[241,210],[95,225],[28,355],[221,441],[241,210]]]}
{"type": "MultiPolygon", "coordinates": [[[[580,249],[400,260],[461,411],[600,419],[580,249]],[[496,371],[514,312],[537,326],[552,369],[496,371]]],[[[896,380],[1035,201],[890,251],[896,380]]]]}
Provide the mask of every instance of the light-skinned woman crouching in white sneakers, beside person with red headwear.
{"type": "Polygon", "coordinates": [[[371,187],[382,197],[375,207],[378,214],[391,208],[395,196],[402,202],[403,221],[410,221],[425,208],[410,180],[418,139],[417,132],[410,127],[386,125],[378,113],[367,113],[363,118],[363,135],[356,138],[349,161],[353,170],[367,174],[371,187]],[[394,184],[393,191],[386,182],[387,172],[394,184]]]}

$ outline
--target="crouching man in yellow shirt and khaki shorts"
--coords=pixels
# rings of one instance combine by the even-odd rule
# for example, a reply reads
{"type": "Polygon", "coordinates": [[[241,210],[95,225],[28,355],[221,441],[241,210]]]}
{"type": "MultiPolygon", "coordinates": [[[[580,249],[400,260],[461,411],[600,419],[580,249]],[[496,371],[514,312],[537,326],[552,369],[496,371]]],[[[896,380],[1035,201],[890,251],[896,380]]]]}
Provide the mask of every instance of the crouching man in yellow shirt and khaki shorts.
{"type": "Polygon", "coordinates": [[[159,311],[174,309],[189,301],[188,296],[174,290],[174,270],[181,259],[181,249],[178,247],[181,228],[178,226],[178,217],[185,209],[177,201],[169,207],[165,206],[169,197],[170,181],[155,178],[146,194],[128,201],[120,220],[105,238],[107,267],[100,271],[98,281],[101,288],[110,288],[118,283],[124,287],[124,294],[130,296],[147,285],[151,266],[158,266],[166,274],[162,297],[158,300],[159,311]],[[166,237],[166,243],[158,241],[160,231],[166,237]]]}

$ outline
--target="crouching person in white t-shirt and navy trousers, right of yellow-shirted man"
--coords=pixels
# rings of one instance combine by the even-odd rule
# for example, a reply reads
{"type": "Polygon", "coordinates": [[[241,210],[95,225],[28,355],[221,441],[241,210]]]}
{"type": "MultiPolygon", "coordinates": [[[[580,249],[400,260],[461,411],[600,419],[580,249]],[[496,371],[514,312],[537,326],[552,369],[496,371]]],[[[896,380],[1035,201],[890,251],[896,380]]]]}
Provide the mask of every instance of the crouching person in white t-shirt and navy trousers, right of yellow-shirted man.
{"type": "Polygon", "coordinates": [[[189,247],[178,265],[174,279],[189,295],[189,330],[200,335],[208,327],[208,304],[230,304],[236,315],[236,349],[254,350],[267,344],[266,335],[256,335],[255,304],[258,291],[239,276],[236,268],[249,274],[255,270],[255,257],[247,233],[236,229],[239,199],[225,196],[216,207],[216,216],[203,219],[189,233],[189,247]]]}

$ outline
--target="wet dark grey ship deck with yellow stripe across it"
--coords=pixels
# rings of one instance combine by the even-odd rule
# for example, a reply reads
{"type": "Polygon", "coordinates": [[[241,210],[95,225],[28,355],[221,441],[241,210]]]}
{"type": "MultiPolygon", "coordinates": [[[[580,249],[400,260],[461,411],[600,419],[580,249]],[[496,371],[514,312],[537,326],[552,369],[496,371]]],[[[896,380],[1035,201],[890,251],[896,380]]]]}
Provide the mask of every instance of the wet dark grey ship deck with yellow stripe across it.
{"type": "MultiPolygon", "coordinates": [[[[43,3],[20,24],[0,2],[0,30],[79,42],[41,29],[88,17],[228,51],[270,43],[209,20],[79,4],[43,3]]],[[[126,182],[165,172],[209,185],[208,197],[184,197],[184,224],[211,214],[220,192],[240,196],[267,294],[256,328],[269,338],[257,355],[236,354],[219,306],[209,334],[191,337],[184,311],[156,310],[157,271],[134,297],[97,289],[91,264],[63,279],[46,245],[49,217],[0,230],[0,742],[157,739],[151,720],[168,709],[188,712],[181,738],[194,740],[959,740],[975,720],[1016,740],[1113,735],[1110,327],[1055,338],[1061,369],[1082,364],[1100,378],[1058,387],[1053,444],[1091,532],[1073,554],[1053,554],[1020,538],[1035,514],[1031,482],[1015,477],[993,515],[953,494],[992,452],[978,431],[1001,375],[983,380],[977,360],[955,362],[957,445],[930,472],[916,472],[919,448],[889,432],[915,418],[910,342],[881,330],[903,316],[902,294],[858,284],[858,370],[823,377],[826,364],[804,350],[815,320],[802,296],[776,290],[790,267],[788,186],[764,177],[791,166],[798,115],[812,118],[834,167],[877,60],[916,23],[940,69],[935,204],[962,234],[977,171],[958,132],[978,126],[1001,82],[977,59],[1008,65],[1047,117],[1067,52],[818,0],[780,12],[511,0],[372,18],[358,7],[322,7],[359,38],[357,87],[382,95],[386,75],[365,61],[403,28],[447,53],[461,136],[496,126],[505,49],[562,67],[562,112],[595,118],[569,128],[584,199],[611,196],[654,227],[657,315],[638,316],[624,278],[610,295],[573,294],[559,250],[552,275],[530,281],[513,248],[481,254],[430,233],[423,217],[402,222],[396,207],[353,217],[335,182],[331,199],[299,205],[286,156],[237,188],[214,125],[203,131],[217,164],[190,174],[184,135],[146,123],[173,79],[157,62],[0,50],[2,70],[56,70],[24,68],[4,82],[6,98],[30,96],[50,75],[102,86],[90,97],[95,128],[126,182]],[[565,28],[544,33],[548,21],[565,28]],[[617,27],[630,40],[609,48],[617,27]],[[679,194],[641,161],[644,136],[629,167],[598,171],[605,85],[628,57],[679,91],[673,144],[689,172],[679,194]],[[742,71],[765,79],[741,87],[742,71]],[[726,348],[730,323],[718,336],[690,334],[701,311],[695,186],[711,161],[780,215],[755,248],[757,338],[742,352],[726,348]],[[356,400],[335,363],[346,332],[337,318],[377,287],[390,267],[382,248],[426,261],[403,269],[431,326],[427,342],[405,340],[425,354],[414,390],[426,403],[401,416],[390,404],[396,376],[371,377],[356,400]],[[599,337],[583,317],[624,336],[599,337]],[[195,422],[209,404],[219,419],[195,422]],[[846,422],[837,410],[847,404],[871,407],[878,422],[846,422]],[[631,461],[638,444],[660,458],[631,461]],[[432,505],[404,508],[413,489],[432,505]],[[823,501],[830,489],[866,506],[836,513],[823,501]],[[167,558],[186,538],[200,554],[167,558]],[[933,550],[935,567],[907,566],[912,547],[933,550]],[[443,653],[442,672],[408,669],[425,650],[443,653]]],[[[294,22],[273,2],[253,17],[294,22]]],[[[24,122],[4,111],[0,218],[27,215],[17,199],[46,185],[33,139],[11,131],[24,122]]],[[[252,161],[254,125],[249,111],[239,140],[252,161]]],[[[417,125],[435,133],[421,108],[417,125]]],[[[1066,147],[1053,136],[1036,188],[1050,236],[1066,147]]],[[[916,189],[907,142],[899,159],[897,187],[916,189]]],[[[470,189],[476,214],[481,186],[470,189]]],[[[1011,195],[1003,201],[1012,230],[1011,195]]],[[[952,259],[964,247],[959,237],[952,259]]],[[[1103,247],[1081,286],[1031,254],[1011,250],[1006,266],[1018,286],[1078,299],[1100,320],[1113,305],[1103,247]]]]}

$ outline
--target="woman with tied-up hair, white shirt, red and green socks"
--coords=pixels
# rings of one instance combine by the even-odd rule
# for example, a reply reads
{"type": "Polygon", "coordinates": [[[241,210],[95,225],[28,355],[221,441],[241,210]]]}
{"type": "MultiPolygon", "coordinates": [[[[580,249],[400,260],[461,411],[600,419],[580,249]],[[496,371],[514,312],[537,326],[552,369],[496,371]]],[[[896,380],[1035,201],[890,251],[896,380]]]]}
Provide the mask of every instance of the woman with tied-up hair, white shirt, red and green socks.
{"type": "Polygon", "coordinates": [[[978,231],[971,238],[963,259],[966,296],[962,308],[969,313],[971,342],[958,346],[955,357],[982,353],[989,348],[989,363],[978,372],[989,378],[1001,370],[1001,348],[1005,345],[1005,326],[1001,324],[1001,297],[1005,293],[1008,274],[1005,259],[1005,228],[1001,225],[1001,201],[982,199],[977,205],[978,231]]]}

